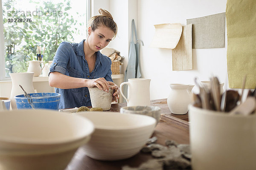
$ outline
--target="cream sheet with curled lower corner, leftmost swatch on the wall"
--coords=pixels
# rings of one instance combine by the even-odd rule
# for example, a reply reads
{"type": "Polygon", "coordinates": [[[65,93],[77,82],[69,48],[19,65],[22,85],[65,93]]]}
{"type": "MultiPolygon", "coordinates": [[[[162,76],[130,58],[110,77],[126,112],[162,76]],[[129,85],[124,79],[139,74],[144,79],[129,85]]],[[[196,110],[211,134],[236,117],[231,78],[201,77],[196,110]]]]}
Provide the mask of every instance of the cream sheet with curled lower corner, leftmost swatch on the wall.
{"type": "Polygon", "coordinates": [[[150,47],[175,48],[180,40],[182,26],[180,23],[165,23],[154,25],[155,34],[150,47]]]}

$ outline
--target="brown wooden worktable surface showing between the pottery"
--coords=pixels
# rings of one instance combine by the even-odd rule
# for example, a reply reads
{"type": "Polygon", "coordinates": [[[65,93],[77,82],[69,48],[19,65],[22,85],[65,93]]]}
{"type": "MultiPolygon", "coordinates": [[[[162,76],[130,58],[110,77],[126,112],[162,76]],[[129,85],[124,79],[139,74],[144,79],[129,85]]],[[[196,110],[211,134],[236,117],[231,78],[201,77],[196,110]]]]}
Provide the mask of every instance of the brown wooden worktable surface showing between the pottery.
{"type": "MultiPolygon", "coordinates": [[[[126,103],[112,104],[109,111],[119,112],[126,103]]],[[[165,145],[165,141],[175,140],[178,143],[189,144],[188,114],[172,114],[167,105],[167,99],[151,100],[151,106],[161,108],[161,120],[157,124],[152,136],[157,136],[157,143],[165,145]]],[[[84,150],[76,151],[66,170],[121,170],[122,166],[138,167],[142,162],[151,159],[150,154],[137,155],[121,161],[97,161],[85,155],[84,150]]]]}

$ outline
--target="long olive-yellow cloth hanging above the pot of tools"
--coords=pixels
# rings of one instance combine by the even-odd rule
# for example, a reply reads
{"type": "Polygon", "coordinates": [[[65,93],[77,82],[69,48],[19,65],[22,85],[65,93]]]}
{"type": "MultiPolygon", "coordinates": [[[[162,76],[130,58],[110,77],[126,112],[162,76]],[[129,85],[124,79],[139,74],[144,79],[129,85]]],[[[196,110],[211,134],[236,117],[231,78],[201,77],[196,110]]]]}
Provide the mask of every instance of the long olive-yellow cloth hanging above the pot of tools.
{"type": "Polygon", "coordinates": [[[256,0],[227,0],[227,73],[230,88],[256,88],[256,0]]]}

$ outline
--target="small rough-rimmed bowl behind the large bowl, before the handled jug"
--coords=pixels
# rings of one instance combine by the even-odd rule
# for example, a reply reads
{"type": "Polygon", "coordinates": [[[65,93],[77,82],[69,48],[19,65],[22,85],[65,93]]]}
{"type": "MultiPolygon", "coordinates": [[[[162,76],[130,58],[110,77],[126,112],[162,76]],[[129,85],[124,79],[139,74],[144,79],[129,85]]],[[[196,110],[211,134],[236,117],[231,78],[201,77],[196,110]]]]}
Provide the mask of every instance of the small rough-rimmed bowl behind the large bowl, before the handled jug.
{"type": "Polygon", "coordinates": [[[134,114],[141,114],[146,116],[151,116],[156,119],[157,123],[160,119],[161,109],[157,106],[129,106],[129,107],[122,107],[120,109],[120,113],[134,113],[134,114]]]}

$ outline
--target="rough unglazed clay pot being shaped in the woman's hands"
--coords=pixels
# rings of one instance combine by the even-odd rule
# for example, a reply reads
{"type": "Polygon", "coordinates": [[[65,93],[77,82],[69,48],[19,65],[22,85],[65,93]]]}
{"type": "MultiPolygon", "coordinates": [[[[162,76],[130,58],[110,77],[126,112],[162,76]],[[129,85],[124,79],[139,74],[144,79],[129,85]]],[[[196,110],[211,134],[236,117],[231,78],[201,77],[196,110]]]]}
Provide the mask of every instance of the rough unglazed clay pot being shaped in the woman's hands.
{"type": "Polygon", "coordinates": [[[99,88],[88,88],[90,93],[91,104],[93,108],[102,108],[103,111],[108,111],[111,108],[113,89],[109,88],[108,92],[102,91],[99,88]]]}

